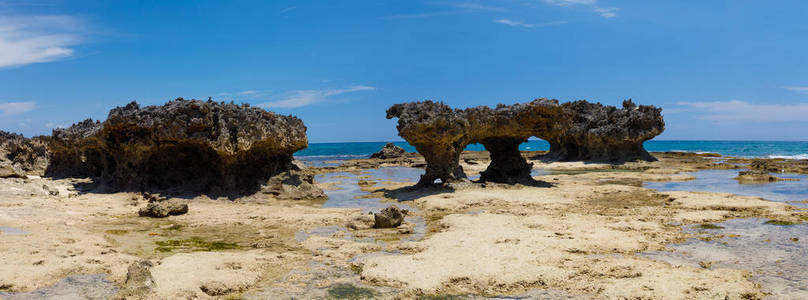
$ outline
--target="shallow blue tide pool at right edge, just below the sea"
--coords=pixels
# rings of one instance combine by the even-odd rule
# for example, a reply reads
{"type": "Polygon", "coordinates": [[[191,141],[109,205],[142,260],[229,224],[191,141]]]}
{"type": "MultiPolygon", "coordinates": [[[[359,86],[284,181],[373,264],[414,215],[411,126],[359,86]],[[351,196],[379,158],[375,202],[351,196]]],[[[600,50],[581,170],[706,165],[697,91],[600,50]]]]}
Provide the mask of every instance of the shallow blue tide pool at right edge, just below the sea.
{"type": "Polygon", "coordinates": [[[645,182],[644,186],[658,191],[693,191],[722,192],[741,196],[757,196],[766,200],[788,202],[789,204],[808,207],[808,175],[774,174],[781,178],[796,178],[799,181],[777,181],[761,184],[740,184],[733,179],[738,170],[702,170],[686,173],[696,177],[694,180],[677,182],[645,182]]]}

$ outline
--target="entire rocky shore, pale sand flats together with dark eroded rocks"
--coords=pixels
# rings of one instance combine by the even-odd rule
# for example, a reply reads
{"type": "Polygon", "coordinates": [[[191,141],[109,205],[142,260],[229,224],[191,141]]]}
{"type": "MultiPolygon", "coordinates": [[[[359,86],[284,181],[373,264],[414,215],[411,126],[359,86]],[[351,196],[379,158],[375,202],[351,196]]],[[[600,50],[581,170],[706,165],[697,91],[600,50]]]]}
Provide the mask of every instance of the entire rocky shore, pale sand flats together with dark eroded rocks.
{"type": "MultiPolygon", "coordinates": [[[[52,137],[2,133],[0,298],[808,296],[729,258],[649,255],[692,239],[727,243],[738,237],[704,230],[728,220],[803,226],[808,211],[646,188],[704,170],[777,184],[771,172],[808,174],[808,161],[651,155],[641,145],[661,133],[659,109],[630,101],[419,102],[388,116],[419,153],[387,145],[305,166],[292,156],[308,143],[299,119],[183,99],[131,103],[52,137]],[[537,133],[556,135],[549,152],[518,151],[537,133]],[[472,142],[488,151],[462,151],[472,142]],[[567,161],[578,159],[589,161],[567,161]]],[[[790,251],[808,249],[788,237],[790,251]]]]}

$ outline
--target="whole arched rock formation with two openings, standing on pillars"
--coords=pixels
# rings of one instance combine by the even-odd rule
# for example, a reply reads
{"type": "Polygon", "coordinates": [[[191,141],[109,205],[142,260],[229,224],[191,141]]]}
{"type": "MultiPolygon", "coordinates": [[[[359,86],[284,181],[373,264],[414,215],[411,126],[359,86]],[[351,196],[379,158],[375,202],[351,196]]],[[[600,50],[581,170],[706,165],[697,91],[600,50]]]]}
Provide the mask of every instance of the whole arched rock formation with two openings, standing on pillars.
{"type": "Polygon", "coordinates": [[[419,186],[432,185],[436,179],[443,183],[465,179],[458,161],[471,143],[482,144],[491,155],[480,180],[513,184],[532,181],[532,165],[519,153],[519,144],[532,136],[550,143],[550,152],[542,157],[550,161],[656,160],[643,142],[664,130],[661,111],[631,100],[624,101],[622,109],[586,101],[559,104],[536,99],[465,110],[427,100],[393,105],[387,118],[399,119],[399,136],[426,159],[419,186]]]}

